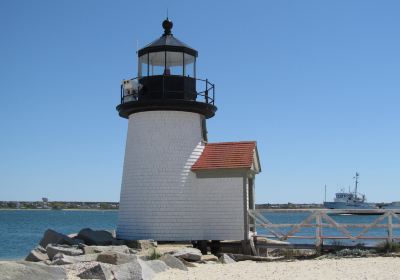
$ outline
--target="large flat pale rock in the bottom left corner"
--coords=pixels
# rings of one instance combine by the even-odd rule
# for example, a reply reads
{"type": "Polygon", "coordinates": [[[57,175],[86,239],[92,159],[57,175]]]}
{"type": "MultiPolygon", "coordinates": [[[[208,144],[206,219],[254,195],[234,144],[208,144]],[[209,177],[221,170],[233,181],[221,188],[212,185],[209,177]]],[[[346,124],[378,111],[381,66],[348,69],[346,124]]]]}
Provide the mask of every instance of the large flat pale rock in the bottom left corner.
{"type": "Polygon", "coordinates": [[[0,279],[61,280],[66,279],[62,267],[26,261],[0,261],[0,279]]]}

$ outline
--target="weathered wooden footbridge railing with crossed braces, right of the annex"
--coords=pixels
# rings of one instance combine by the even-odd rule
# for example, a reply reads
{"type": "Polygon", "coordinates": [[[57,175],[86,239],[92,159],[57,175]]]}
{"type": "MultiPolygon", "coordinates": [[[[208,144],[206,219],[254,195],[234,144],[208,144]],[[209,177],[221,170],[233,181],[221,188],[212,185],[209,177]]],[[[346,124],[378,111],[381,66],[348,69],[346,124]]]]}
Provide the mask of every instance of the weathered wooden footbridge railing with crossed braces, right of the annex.
{"type": "MultiPolygon", "coordinates": [[[[345,239],[351,241],[364,240],[387,240],[393,242],[400,240],[400,236],[394,234],[394,229],[400,228],[400,216],[393,210],[381,209],[365,209],[365,210],[331,210],[331,209],[257,209],[249,210],[248,215],[253,218],[254,225],[258,228],[266,229],[270,235],[264,237],[272,237],[278,240],[291,239],[315,239],[315,246],[320,248],[324,240],[332,239],[345,239]],[[299,223],[296,224],[274,224],[264,214],[271,213],[309,213],[309,215],[299,223]],[[339,223],[329,215],[379,215],[371,223],[339,223]],[[386,223],[382,223],[384,220],[386,223]],[[394,223],[393,221],[397,221],[394,223]],[[282,229],[286,228],[288,231],[283,232],[282,229]],[[302,228],[315,228],[315,235],[304,236],[296,235],[302,228]],[[339,231],[342,236],[329,236],[324,235],[325,228],[333,228],[339,231]],[[360,228],[361,232],[354,234],[349,231],[349,228],[360,228]],[[365,236],[365,234],[373,228],[384,228],[387,234],[382,236],[365,236]]],[[[254,226],[252,225],[252,226],[254,226]]],[[[261,235],[258,235],[261,236],[261,235]]]]}

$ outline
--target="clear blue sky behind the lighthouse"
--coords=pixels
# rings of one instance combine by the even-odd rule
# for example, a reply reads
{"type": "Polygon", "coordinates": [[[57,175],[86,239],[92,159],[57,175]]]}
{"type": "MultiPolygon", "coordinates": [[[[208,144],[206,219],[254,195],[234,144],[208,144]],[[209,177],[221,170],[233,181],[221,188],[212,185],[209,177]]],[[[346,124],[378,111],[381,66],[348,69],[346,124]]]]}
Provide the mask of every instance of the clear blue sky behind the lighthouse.
{"type": "Polygon", "coordinates": [[[216,84],[209,140],[257,140],[257,202],[400,200],[399,1],[0,1],[0,200],[117,201],[136,46],[173,33],[216,84]]]}

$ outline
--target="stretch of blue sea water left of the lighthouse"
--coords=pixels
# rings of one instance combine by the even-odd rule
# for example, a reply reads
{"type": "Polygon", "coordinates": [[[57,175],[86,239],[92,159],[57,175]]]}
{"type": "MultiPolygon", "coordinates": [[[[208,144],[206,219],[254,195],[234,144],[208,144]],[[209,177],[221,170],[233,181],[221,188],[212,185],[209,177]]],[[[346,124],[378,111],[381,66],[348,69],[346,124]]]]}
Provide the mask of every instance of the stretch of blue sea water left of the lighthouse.
{"type": "Polygon", "coordinates": [[[85,227],[115,229],[117,211],[0,211],[0,259],[26,257],[51,228],[70,234],[85,227]]]}

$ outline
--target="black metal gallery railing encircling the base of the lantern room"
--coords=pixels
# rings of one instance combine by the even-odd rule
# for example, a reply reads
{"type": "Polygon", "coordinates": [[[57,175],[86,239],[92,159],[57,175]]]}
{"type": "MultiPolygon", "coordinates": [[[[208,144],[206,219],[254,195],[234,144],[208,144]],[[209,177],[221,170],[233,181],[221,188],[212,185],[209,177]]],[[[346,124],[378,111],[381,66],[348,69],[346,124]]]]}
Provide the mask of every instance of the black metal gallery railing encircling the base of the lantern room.
{"type": "MultiPolygon", "coordinates": [[[[148,84],[152,83],[152,80],[148,79],[148,84]]],[[[129,80],[124,80],[121,84],[121,104],[141,101],[141,100],[157,100],[157,99],[170,99],[170,100],[185,100],[194,102],[204,102],[207,104],[215,104],[215,84],[208,81],[208,79],[196,79],[183,76],[173,75],[160,75],[150,76],[147,78],[136,77],[129,80]],[[146,88],[144,79],[152,77],[161,81],[160,86],[156,90],[146,88]],[[177,79],[174,83],[185,83],[189,81],[192,85],[190,89],[184,86],[179,89],[171,87],[168,84],[170,79],[177,79]],[[142,82],[142,83],[141,83],[142,82]],[[200,90],[197,88],[200,87],[200,90]]]]}

